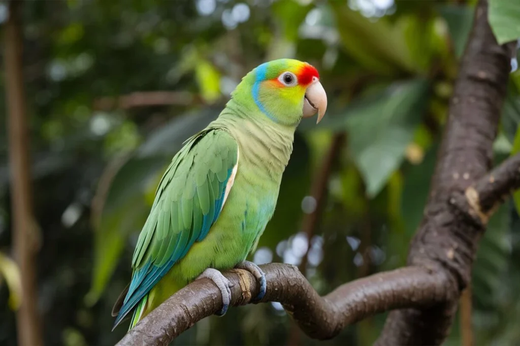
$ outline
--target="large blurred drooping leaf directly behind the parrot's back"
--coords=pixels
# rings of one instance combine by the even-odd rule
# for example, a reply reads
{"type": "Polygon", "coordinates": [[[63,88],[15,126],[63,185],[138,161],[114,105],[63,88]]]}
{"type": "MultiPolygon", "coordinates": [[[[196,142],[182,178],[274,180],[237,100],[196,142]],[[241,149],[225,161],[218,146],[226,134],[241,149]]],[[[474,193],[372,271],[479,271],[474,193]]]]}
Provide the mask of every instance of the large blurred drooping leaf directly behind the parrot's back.
{"type": "Polygon", "coordinates": [[[96,193],[94,269],[88,304],[101,296],[118,264],[126,240],[137,234],[150,211],[157,184],[182,143],[218,113],[204,109],[179,116],[155,130],[132,155],[109,165],[96,193]]]}

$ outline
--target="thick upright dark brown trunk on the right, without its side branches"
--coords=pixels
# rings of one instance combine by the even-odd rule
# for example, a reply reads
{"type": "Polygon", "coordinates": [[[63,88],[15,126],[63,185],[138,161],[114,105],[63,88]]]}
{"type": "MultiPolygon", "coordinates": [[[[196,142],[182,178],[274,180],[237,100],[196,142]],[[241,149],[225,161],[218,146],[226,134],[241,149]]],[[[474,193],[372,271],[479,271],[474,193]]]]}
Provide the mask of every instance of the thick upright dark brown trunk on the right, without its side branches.
{"type": "MultiPolygon", "coordinates": [[[[409,265],[435,267],[451,276],[455,284],[446,285],[455,297],[471,280],[485,224],[469,222],[450,200],[464,193],[491,166],[513,45],[497,44],[487,21],[487,1],[480,0],[450,101],[425,216],[408,256],[409,265]]],[[[376,343],[440,344],[449,333],[456,309],[457,299],[453,299],[431,309],[393,311],[376,343]]]]}

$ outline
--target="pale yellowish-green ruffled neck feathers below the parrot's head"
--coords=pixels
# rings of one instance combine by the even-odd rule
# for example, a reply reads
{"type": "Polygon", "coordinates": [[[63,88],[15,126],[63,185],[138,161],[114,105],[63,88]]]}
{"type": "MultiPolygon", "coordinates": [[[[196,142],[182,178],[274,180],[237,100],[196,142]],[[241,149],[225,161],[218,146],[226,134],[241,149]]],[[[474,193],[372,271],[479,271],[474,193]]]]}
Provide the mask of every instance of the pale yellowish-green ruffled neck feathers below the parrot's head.
{"type": "Polygon", "coordinates": [[[213,124],[233,135],[239,143],[241,159],[252,164],[251,167],[266,167],[271,178],[281,178],[292,153],[295,126],[276,123],[254,103],[233,99],[213,124]]]}

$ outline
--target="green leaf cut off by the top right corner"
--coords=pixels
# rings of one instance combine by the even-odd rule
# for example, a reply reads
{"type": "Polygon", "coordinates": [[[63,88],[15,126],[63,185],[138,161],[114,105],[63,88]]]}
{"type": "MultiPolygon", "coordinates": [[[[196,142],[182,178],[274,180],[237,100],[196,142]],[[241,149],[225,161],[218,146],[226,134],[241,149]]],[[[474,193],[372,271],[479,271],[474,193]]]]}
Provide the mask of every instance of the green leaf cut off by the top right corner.
{"type": "Polygon", "coordinates": [[[520,2],[489,0],[488,18],[499,44],[520,38],[520,2]]]}

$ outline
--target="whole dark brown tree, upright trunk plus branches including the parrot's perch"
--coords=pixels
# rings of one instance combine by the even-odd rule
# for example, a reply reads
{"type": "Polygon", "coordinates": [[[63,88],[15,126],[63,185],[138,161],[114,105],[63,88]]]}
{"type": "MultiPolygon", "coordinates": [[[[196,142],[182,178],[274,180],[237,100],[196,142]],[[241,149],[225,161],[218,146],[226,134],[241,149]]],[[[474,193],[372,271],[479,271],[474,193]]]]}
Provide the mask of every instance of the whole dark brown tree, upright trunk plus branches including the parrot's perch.
{"type": "MultiPolygon", "coordinates": [[[[267,276],[262,301],[281,302],[309,337],[332,338],[369,315],[400,309],[389,314],[376,344],[440,344],[446,339],[487,221],[520,187],[520,156],[488,173],[515,43],[497,44],[487,21],[487,0],[479,0],[473,25],[408,266],[344,284],[324,297],[297,268],[262,266],[267,276]]],[[[235,283],[232,305],[244,305],[258,292],[251,274],[235,270],[225,275],[235,283]]],[[[146,316],[119,345],[167,344],[221,308],[211,281],[193,282],[146,316]]]]}

